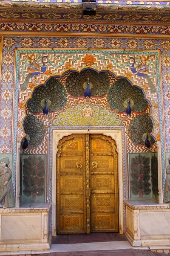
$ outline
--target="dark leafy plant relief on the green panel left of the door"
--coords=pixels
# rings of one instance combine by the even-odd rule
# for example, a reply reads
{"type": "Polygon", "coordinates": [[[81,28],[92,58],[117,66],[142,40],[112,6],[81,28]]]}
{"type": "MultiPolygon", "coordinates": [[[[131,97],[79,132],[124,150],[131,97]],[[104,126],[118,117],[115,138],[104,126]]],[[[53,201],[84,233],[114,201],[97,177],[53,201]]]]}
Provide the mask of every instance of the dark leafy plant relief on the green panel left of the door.
{"type": "Polygon", "coordinates": [[[44,160],[41,157],[28,157],[23,165],[23,194],[27,197],[32,195],[33,200],[44,192],[44,160]]]}

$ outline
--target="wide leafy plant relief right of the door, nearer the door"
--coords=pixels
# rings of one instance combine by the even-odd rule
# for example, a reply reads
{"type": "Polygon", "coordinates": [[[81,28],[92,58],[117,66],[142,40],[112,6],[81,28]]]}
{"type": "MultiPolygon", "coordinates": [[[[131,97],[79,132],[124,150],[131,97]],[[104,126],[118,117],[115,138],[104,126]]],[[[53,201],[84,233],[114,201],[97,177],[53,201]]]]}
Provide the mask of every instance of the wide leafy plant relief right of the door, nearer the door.
{"type": "Polygon", "coordinates": [[[150,189],[150,158],[142,157],[141,154],[135,156],[131,160],[131,190],[133,195],[139,195],[139,198],[144,195],[149,195],[150,189]]]}

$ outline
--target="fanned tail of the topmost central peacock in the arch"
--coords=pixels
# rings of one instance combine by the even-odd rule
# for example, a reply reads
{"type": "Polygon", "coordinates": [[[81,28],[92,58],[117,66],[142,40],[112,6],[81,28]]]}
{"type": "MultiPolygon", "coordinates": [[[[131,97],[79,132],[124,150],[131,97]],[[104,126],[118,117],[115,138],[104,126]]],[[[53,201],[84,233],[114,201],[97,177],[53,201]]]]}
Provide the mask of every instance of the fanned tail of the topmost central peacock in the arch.
{"type": "Polygon", "coordinates": [[[110,79],[107,73],[97,73],[94,70],[83,70],[82,72],[72,72],[66,80],[66,89],[72,96],[82,96],[88,86],[92,96],[103,96],[108,92],[110,79]]]}

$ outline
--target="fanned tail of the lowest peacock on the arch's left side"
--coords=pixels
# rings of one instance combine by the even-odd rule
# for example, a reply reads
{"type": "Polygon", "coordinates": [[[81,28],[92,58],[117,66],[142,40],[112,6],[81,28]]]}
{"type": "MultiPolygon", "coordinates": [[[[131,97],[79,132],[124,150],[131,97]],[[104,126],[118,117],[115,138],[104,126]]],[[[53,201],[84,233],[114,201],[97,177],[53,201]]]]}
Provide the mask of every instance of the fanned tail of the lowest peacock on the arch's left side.
{"type": "Polygon", "coordinates": [[[29,144],[34,148],[40,146],[45,136],[45,128],[40,119],[28,114],[24,120],[23,127],[25,133],[30,137],[29,144]]]}

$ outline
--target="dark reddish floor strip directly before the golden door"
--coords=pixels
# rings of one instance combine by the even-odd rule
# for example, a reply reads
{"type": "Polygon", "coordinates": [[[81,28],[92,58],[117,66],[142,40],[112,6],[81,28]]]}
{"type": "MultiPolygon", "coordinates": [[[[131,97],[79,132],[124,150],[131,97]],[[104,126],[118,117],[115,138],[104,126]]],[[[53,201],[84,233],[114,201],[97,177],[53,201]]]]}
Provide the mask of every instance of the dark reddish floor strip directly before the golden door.
{"type": "Polygon", "coordinates": [[[81,244],[94,242],[110,242],[110,241],[127,241],[125,235],[119,233],[100,233],[92,232],[91,234],[71,234],[57,235],[52,238],[51,244],[81,244]]]}

